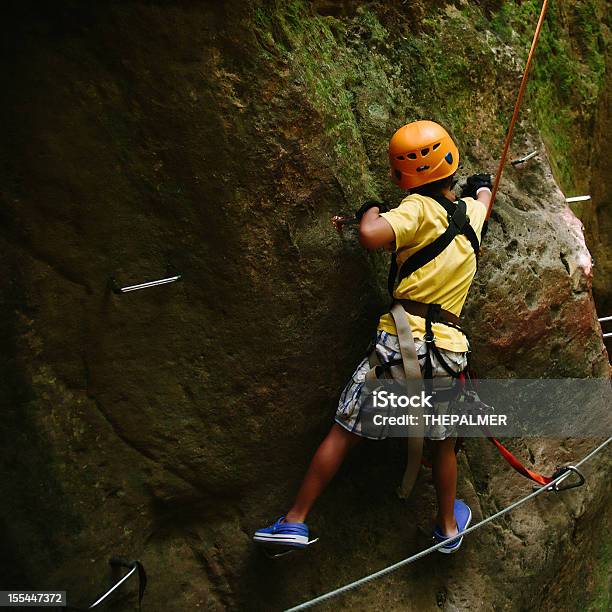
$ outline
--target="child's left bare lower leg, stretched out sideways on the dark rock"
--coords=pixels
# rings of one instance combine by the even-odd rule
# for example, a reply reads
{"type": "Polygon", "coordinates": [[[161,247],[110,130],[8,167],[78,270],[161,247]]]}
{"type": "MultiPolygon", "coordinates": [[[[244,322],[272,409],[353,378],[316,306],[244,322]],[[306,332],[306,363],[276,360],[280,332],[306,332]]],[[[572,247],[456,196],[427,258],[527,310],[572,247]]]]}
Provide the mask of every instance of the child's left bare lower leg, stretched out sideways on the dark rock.
{"type": "Polygon", "coordinates": [[[291,510],[287,512],[285,520],[288,523],[304,522],[312,505],[342,465],[348,451],[360,439],[357,434],[347,431],[337,423],[332,425],[310,462],[291,510]]]}

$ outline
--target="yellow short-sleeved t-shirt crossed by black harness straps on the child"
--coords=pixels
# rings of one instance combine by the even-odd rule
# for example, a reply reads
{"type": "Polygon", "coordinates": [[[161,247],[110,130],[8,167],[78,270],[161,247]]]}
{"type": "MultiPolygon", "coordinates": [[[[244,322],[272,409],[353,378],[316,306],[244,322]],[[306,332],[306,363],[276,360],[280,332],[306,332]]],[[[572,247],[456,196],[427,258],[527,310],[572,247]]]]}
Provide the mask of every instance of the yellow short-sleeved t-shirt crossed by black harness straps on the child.
{"type": "MultiPolygon", "coordinates": [[[[487,214],[486,206],[473,198],[462,198],[467,206],[470,225],[478,240],[487,214]]],[[[381,215],[395,232],[398,269],[408,257],[433,242],[448,226],[446,211],[434,199],[418,194],[404,198],[397,208],[381,215]]],[[[459,316],[476,273],[474,249],[466,236],[457,236],[440,255],[403,279],[396,287],[394,297],[428,304],[441,304],[459,316]]],[[[422,340],[425,319],[407,314],[412,333],[422,340]]],[[[383,315],[378,329],[396,334],[391,314],[383,315]]],[[[466,337],[457,329],[435,323],[436,346],[450,351],[467,351],[466,337]]]]}

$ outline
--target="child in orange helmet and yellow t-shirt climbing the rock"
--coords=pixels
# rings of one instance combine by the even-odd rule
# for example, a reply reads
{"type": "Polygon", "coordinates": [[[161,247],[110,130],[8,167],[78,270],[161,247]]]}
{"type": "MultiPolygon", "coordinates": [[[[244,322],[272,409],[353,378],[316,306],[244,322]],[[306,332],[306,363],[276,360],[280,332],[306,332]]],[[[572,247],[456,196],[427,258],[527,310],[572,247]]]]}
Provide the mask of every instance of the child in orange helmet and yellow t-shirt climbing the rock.
{"type": "MultiPolygon", "coordinates": [[[[467,367],[469,345],[459,327],[459,315],[476,273],[478,248],[491,198],[490,176],[470,176],[462,190],[462,199],[455,202],[452,189],[459,151],[446,130],[432,121],[415,121],[401,127],[389,143],[389,161],[393,181],[409,195],[390,211],[381,203],[364,204],[356,214],[359,240],[370,250],[385,247],[394,251],[390,273],[393,312],[401,305],[401,317],[410,326],[407,329],[411,330],[410,344],[414,339],[417,375],[420,368],[426,388],[433,388],[433,379],[436,383],[447,379],[451,383],[447,388],[450,388],[452,379],[467,367]]],[[[348,451],[363,437],[371,437],[362,431],[360,420],[366,376],[374,371],[375,364],[392,372],[397,366],[390,364],[397,364],[398,358],[404,359],[404,367],[407,365],[407,353],[398,338],[398,334],[402,336],[401,330],[398,331],[400,324],[396,328],[395,316],[390,312],[381,317],[375,350],[362,360],[344,388],[335,422],[312,458],[293,505],[273,525],[255,532],[256,543],[289,549],[307,546],[309,529],[305,520],[314,502],[348,451]]],[[[404,327],[403,321],[401,327],[404,327]]],[[[444,385],[436,384],[435,388],[438,392],[444,385]]],[[[449,401],[435,403],[435,412],[439,415],[451,408],[449,401]]],[[[427,438],[438,502],[433,536],[443,542],[463,532],[472,513],[464,501],[456,499],[456,432],[450,427],[437,426],[427,431],[427,438]]],[[[414,480],[409,471],[416,474],[414,465],[409,468],[404,478],[408,489],[414,480]]],[[[438,550],[453,553],[461,546],[462,539],[438,550]]]]}

